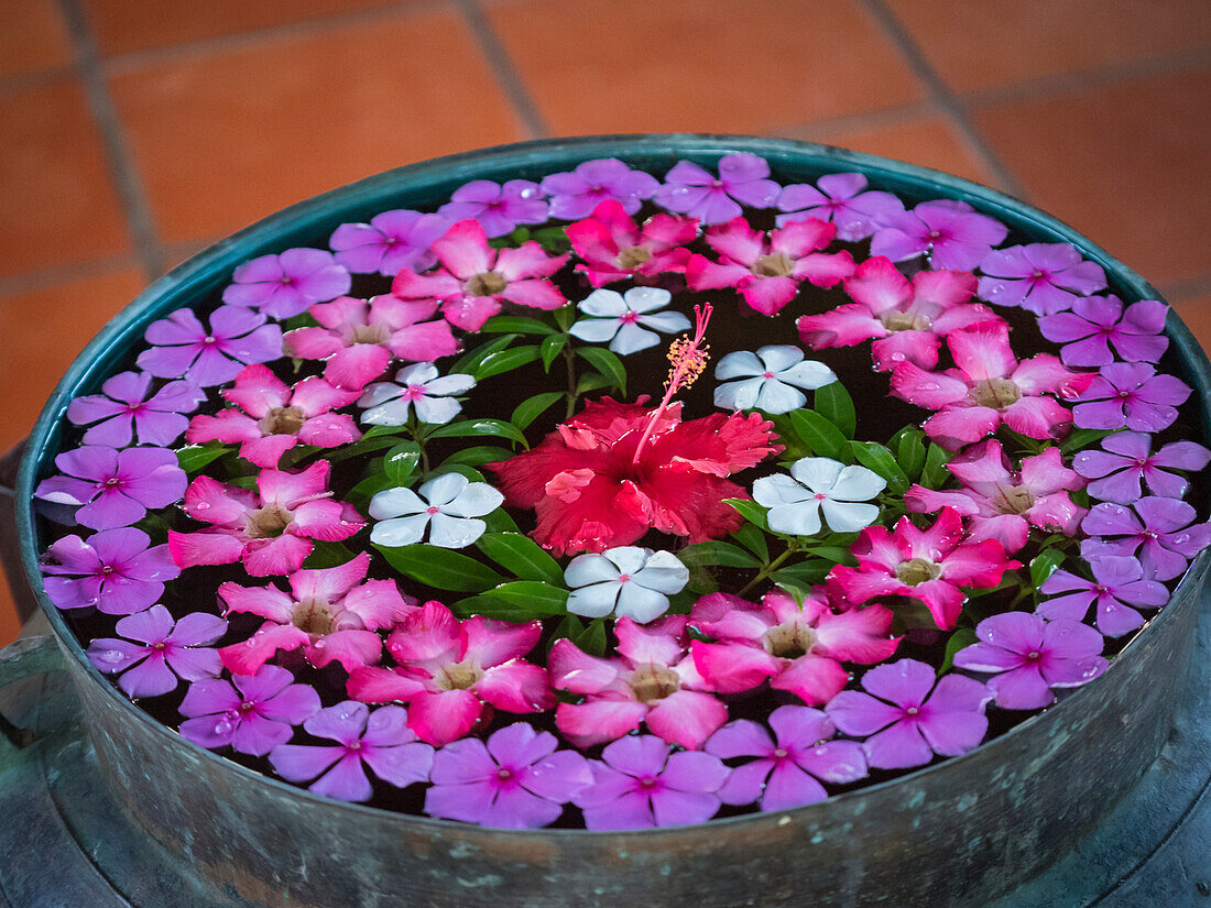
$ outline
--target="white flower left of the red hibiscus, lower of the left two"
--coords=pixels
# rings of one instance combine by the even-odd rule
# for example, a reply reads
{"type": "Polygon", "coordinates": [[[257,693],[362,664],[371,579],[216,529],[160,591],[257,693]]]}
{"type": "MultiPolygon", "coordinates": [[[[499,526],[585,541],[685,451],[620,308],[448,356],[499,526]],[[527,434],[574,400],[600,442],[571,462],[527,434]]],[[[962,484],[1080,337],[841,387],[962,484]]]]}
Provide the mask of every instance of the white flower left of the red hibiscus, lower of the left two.
{"type": "Polygon", "coordinates": [[[500,507],[505,496],[486,482],[467,482],[461,473],[442,473],[417,492],[388,489],[371,499],[371,517],[379,523],[371,542],[409,546],[419,542],[429,527],[429,545],[463,548],[488,528],[474,519],[500,507]]]}

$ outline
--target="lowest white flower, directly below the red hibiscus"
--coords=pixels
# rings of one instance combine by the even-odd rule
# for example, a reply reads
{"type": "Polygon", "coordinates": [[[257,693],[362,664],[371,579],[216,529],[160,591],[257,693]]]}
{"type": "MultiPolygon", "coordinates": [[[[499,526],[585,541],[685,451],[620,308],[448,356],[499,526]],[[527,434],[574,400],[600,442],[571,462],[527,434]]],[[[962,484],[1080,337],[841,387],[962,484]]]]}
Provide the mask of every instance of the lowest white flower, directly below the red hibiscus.
{"type": "Polygon", "coordinates": [[[585,617],[614,613],[645,625],[668,609],[668,594],[689,582],[689,568],[671,552],[638,546],[619,546],[604,552],[578,554],[563,571],[573,587],[568,611],[585,617]]]}

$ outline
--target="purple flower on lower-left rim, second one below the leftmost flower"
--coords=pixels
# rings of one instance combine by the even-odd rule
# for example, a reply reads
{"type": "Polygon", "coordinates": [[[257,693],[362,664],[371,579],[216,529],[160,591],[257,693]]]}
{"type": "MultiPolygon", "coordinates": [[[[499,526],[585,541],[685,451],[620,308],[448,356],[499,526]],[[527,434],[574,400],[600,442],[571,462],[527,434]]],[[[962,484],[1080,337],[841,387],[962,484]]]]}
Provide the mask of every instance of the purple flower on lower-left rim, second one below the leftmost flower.
{"type": "Polygon", "coordinates": [[[117,620],[117,633],[88,644],[88,660],[98,671],[116,674],[117,686],[132,699],[154,697],[185,680],[217,677],[223,671],[219,651],[208,644],[226,632],[226,621],[205,611],[190,611],[173,623],[163,605],[117,620]],[[134,640],[134,643],[131,643],[134,640]],[[133,666],[133,667],[132,667],[133,666]]]}

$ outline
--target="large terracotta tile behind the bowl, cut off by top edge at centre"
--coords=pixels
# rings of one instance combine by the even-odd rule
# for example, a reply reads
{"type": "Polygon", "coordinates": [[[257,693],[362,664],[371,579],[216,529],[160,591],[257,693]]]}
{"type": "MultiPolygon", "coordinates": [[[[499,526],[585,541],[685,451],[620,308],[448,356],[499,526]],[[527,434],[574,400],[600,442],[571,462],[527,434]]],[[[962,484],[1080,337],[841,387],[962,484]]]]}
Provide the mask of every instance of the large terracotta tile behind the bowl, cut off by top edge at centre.
{"type": "Polygon", "coordinates": [[[488,7],[551,131],[768,132],[920,98],[851,0],[488,7]]]}

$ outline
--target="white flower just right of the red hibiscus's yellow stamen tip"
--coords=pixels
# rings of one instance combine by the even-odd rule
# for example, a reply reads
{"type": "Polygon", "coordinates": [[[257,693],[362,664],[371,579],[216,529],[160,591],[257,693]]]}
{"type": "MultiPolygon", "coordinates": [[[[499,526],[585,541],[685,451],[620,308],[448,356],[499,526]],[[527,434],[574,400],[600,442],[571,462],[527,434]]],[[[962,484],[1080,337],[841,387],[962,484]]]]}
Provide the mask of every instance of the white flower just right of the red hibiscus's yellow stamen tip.
{"type": "Polygon", "coordinates": [[[716,407],[775,414],[797,410],[808,402],[799,387],[815,391],[837,380],[827,366],[804,360],[803,351],[790,345],[763,346],[756,354],[747,350],[728,354],[714,367],[714,378],[742,379],[714,389],[716,407]]]}

